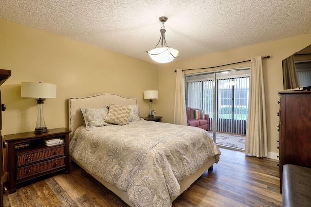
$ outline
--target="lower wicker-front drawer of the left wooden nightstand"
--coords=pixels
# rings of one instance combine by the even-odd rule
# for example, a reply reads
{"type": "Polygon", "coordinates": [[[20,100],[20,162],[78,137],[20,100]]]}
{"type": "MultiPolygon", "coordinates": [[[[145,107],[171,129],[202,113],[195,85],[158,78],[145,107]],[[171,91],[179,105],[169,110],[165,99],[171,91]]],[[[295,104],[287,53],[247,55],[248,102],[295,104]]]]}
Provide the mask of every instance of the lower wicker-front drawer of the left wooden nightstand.
{"type": "Polygon", "coordinates": [[[17,169],[17,179],[65,166],[65,157],[17,169]]]}

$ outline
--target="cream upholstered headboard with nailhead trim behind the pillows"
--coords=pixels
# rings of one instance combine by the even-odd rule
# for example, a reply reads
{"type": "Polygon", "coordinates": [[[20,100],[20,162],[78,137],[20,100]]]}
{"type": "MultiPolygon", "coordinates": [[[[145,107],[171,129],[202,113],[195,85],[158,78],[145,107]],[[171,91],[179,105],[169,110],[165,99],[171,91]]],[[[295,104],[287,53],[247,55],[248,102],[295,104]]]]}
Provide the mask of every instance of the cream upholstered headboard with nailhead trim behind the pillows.
{"type": "Polygon", "coordinates": [[[108,106],[110,103],[118,105],[137,104],[136,99],[126,98],[112,93],[103,93],[94,96],[69,98],[69,129],[71,130],[70,138],[74,131],[83,125],[80,108],[101,108],[108,106]]]}

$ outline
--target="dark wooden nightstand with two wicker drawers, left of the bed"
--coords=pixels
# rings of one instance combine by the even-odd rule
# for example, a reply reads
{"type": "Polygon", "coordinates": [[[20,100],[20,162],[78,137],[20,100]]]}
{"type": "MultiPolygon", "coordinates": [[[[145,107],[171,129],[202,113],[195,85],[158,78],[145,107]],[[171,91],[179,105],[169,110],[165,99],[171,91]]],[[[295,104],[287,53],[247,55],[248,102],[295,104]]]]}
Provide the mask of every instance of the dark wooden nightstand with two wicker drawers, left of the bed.
{"type": "Polygon", "coordinates": [[[42,134],[25,132],[4,136],[8,144],[9,193],[16,191],[17,184],[42,175],[58,171],[70,173],[70,132],[69,129],[58,128],[42,134]],[[44,140],[53,138],[64,139],[64,143],[45,146],[44,140]]]}

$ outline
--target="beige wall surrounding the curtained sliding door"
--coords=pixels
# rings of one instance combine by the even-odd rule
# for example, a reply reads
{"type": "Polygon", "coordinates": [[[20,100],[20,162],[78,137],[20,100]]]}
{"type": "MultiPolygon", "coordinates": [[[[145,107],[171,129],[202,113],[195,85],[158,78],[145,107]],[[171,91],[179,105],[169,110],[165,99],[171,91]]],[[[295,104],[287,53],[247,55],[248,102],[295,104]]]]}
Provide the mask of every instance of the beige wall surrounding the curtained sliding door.
{"type": "MultiPolygon", "coordinates": [[[[217,41],[217,40],[215,40],[217,41]]],[[[282,79],[282,60],[291,54],[307,47],[311,44],[311,34],[301,35],[293,38],[281,39],[273,42],[267,42],[235,50],[202,55],[181,61],[173,61],[170,64],[162,64],[158,71],[159,104],[156,108],[158,114],[163,115],[163,121],[173,123],[174,98],[175,98],[175,69],[193,69],[204,68],[227,63],[234,63],[249,60],[253,56],[270,55],[270,59],[263,59],[263,75],[266,92],[266,113],[268,124],[268,151],[276,157],[278,154],[277,125],[279,118],[276,116],[279,110],[278,91],[283,90],[282,79]]],[[[180,54],[182,55],[182,54],[180,54]]],[[[202,71],[213,71],[220,69],[240,68],[250,66],[250,62],[236,64],[214,69],[201,69],[186,71],[185,74],[197,73],[202,71]]]]}

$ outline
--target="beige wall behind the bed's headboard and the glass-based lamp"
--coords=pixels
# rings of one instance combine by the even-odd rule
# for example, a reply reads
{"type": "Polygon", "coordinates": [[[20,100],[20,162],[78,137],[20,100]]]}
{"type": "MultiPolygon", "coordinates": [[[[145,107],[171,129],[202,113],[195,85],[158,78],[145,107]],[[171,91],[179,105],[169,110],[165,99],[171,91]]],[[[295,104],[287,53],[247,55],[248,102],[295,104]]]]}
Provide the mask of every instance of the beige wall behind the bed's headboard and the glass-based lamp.
{"type": "Polygon", "coordinates": [[[12,71],[0,88],[7,106],[2,113],[4,135],[35,129],[36,101],[20,97],[22,81],[57,85],[57,98],[44,104],[48,128],[68,127],[69,97],[99,93],[137,98],[140,114],[147,115],[149,101],[143,100],[142,92],[158,86],[156,64],[4,19],[0,19],[0,69],[12,71]]]}

